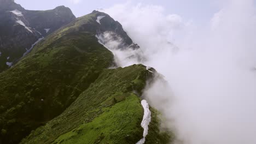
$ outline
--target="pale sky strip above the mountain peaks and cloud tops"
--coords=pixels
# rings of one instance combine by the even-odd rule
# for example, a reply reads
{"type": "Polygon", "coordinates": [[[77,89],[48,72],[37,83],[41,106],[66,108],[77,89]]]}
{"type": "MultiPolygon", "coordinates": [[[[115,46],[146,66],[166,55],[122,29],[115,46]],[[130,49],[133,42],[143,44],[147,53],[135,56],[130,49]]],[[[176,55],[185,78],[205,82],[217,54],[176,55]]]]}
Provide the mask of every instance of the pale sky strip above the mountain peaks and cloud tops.
{"type": "MultiPolygon", "coordinates": [[[[219,1],[219,0],[217,0],[219,1]]],[[[165,9],[166,14],[178,14],[185,19],[197,19],[197,21],[210,19],[218,8],[218,2],[211,0],[130,0],[129,2],[136,5],[142,3],[144,5],[159,5],[165,9]]],[[[98,0],[98,1],[86,1],[86,0],[44,0],[44,1],[32,1],[32,0],[15,0],[25,9],[29,10],[46,10],[53,9],[59,5],[65,5],[71,8],[75,16],[83,16],[90,13],[95,9],[106,9],[112,7],[115,4],[124,4],[127,0],[98,0]]],[[[127,11],[129,13],[129,11],[127,11]]]]}

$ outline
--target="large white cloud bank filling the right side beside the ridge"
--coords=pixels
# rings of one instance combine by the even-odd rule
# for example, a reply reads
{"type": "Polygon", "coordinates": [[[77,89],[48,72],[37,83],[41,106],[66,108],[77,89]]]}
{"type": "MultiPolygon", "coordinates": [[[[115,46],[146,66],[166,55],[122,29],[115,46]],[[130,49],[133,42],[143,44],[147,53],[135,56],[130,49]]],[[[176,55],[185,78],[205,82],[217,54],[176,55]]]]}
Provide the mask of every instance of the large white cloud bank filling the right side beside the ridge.
{"type": "Polygon", "coordinates": [[[157,79],[144,94],[180,140],[256,143],[253,0],[226,1],[203,27],[166,16],[157,5],[126,3],[105,11],[141,46],[148,59],[143,64],[165,76],[167,82],[157,79]]]}

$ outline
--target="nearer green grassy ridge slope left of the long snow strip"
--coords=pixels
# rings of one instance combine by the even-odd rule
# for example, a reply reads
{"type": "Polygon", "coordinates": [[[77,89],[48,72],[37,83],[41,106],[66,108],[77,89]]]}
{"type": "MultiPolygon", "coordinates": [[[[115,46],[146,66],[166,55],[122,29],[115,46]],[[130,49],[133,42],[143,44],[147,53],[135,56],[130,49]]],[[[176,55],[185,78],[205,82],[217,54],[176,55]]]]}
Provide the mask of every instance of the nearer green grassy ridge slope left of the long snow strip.
{"type": "Polygon", "coordinates": [[[143,65],[103,70],[66,111],[23,143],[136,143],[143,133],[143,108],[135,93],[148,76],[143,65]]]}

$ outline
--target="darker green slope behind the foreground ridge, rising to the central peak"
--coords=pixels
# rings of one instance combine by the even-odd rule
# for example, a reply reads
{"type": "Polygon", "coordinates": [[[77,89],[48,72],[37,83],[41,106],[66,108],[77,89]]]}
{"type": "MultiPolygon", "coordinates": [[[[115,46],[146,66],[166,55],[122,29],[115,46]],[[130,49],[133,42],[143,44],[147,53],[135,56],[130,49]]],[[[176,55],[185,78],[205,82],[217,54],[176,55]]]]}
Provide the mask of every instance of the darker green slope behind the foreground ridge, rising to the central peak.
{"type": "Polygon", "coordinates": [[[84,28],[90,20],[84,16],[49,35],[0,73],[0,143],[17,143],[59,115],[112,64],[113,54],[84,28]]]}

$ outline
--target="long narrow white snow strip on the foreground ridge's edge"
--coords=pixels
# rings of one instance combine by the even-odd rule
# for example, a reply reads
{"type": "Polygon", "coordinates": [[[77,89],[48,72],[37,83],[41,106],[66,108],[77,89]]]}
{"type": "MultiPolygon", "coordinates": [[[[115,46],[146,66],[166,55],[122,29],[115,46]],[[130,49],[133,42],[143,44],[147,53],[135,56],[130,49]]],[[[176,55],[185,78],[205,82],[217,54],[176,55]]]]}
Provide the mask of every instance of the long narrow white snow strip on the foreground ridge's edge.
{"type": "Polygon", "coordinates": [[[151,122],[151,112],[149,110],[149,105],[146,100],[141,101],[141,105],[144,109],[144,116],[141,122],[141,127],[144,129],[143,138],[139,140],[136,144],[143,144],[146,140],[146,136],[148,135],[148,125],[151,122]]]}

